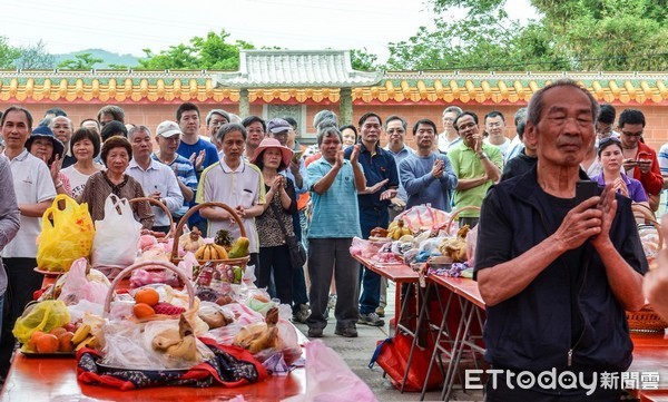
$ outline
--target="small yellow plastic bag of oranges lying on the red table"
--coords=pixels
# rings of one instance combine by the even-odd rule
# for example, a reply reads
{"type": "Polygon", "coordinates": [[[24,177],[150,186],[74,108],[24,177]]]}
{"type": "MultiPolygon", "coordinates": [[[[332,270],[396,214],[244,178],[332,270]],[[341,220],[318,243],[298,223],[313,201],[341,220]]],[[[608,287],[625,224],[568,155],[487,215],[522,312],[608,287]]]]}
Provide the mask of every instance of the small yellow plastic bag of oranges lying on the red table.
{"type": "Polygon", "coordinates": [[[49,332],[70,322],[69,311],[61,301],[43,301],[17,320],[12,333],[21,343],[28,343],[35,331],[49,332]]]}

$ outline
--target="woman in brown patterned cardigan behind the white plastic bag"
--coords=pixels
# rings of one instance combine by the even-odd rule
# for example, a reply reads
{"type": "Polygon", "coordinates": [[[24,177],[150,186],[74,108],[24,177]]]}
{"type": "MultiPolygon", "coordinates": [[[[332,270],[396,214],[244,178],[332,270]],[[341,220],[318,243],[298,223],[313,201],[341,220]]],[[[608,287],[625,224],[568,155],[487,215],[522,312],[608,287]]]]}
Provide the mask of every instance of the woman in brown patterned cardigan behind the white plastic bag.
{"type": "MultiPolygon", "coordinates": [[[[127,199],[144,197],[141,185],[125,173],[132,159],[132,146],[127,138],[114,136],[107,139],[102,145],[101,159],[107,170],[94,173],[77,199],[88,203],[94,220],[105,218],[105,202],[110,194],[127,199]]],[[[132,210],[139,216],[144,229],[153,227],[154,215],[148,203],[132,204],[132,210]]]]}

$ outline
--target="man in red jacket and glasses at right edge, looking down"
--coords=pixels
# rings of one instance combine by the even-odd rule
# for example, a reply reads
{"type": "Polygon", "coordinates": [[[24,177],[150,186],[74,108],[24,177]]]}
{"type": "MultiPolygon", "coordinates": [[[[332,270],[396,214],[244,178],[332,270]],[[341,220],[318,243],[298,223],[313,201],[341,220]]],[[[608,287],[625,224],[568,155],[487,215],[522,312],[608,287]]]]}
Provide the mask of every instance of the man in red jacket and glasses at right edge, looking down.
{"type": "Polygon", "coordinates": [[[621,133],[623,169],[627,176],[640,180],[652,210],[659,208],[664,178],[657,159],[657,153],[642,143],[645,115],[637,109],[626,109],[619,115],[618,129],[621,133]]]}

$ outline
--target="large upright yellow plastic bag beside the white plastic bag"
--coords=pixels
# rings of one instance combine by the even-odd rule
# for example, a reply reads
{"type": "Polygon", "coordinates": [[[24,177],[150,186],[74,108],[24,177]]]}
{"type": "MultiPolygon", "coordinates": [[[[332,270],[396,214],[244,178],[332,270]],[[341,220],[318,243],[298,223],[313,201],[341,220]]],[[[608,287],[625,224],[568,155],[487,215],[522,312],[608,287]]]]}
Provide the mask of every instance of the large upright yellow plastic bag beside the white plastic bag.
{"type": "Polygon", "coordinates": [[[45,271],[69,271],[72,262],[90,255],[95,226],[87,204],[77,204],[59,194],[42,215],[42,231],[37,248],[37,267],[45,271]],[[65,209],[58,203],[62,200],[65,209]]]}

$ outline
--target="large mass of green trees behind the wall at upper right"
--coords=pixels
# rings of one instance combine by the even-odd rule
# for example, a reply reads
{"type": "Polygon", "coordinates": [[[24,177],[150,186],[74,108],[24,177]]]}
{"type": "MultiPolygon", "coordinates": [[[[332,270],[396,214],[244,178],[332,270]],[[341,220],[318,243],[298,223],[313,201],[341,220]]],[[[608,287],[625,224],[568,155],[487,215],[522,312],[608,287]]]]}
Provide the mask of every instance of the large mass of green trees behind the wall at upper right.
{"type": "Polygon", "coordinates": [[[421,27],[409,40],[390,43],[390,67],[429,68],[431,57],[434,68],[444,69],[668,68],[665,0],[531,0],[541,17],[524,26],[504,14],[507,0],[428,1],[436,14],[464,8],[466,20],[436,16],[435,29],[421,27]]]}

